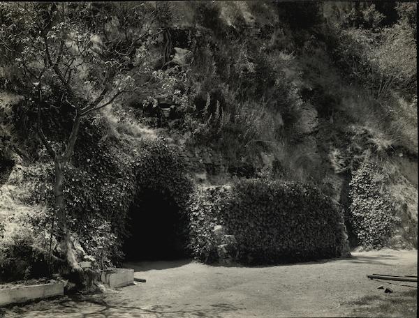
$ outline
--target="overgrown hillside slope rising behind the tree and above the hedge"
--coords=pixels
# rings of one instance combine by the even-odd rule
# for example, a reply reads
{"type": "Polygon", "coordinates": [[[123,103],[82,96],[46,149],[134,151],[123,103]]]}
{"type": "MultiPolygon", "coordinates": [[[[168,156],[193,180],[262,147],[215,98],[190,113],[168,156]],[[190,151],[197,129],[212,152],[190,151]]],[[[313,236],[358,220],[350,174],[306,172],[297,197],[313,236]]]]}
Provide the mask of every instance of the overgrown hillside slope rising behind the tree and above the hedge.
{"type": "MultiPolygon", "coordinates": [[[[3,44],[16,27],[7,25],[15,18],[10,6],[1,5],[3,44]]],[[[340,204],[353,245],[417,246],[415,3],[157,1],[71,6],[70,12],[79,10],[91,24],[94,36],[87,40],[93,49],[115,47],[106,58],[128,68],[137,88],[82,121],[66,172],[68,215],[75,220],[73,228],[88,219],[84,234],[79,234],[89,254],[94,248],[89,250],[85,240],[94,238],[91,246],[117,248],[121,243],[114,216],[128,211],[137,190],[135,160],[151,156],[150,162],[160,162],[145,146],[157,136],[170,144],[173,160],[186,165],[182,180],[188,175],[204,185],[237,178],[307,183],[340,204]],[[142,22],[130,24],[137,13],[142,22]],[[130,46],[133,50],[122,50],[133,38],[138,38],[130,46]],[[367,192],[372,186],[374,195],[367,192]],[[378,211],[383,200],[390,203],[378,211]],[[371,211],[388,222],[378,220],[377,225],[377,215],[369,222],[371,211]],[[90,237],[98,224],[100,231],[90,237]],[[115,238],[103,241],[101,232],[112,232],[115,238]]],[[[52,19],[54,23],[59,21],[52,19]]],[[[67,27],[68,34],[80,31],[67,27]]],[[[22,206],[32,215],[28,218],[34,220],[34,233],[39,233],[39,225],[50,224],[52,215],[43,208],[50,202],[50,183],[44,181],[51,180],[47,167],[52,162],[36,134],[36,95],[18,75],[22,56],[8,49],[1,46],[8,56],[0,65],[3,236],[22,206]],[[32,201],[13,192],[20,169],[36,183],[19,185],[26,189],[23,197],[36,198],[32,201]]],[[[38,62],[31,63],[36,68],[38,62]]],[[[90,77],[102,75],[90,65],[77,72],[78,100],[94,99],[99,83],[90,77]]],[[[43,105],[43,126],[54,149],[60,149],[71,131],[74,109],[63,102],[57,79],[46,76],[52,91],[49,104],[43,105]]],[[[157,170],[156,176],[164,178],[170,169],[157,170]]],[[[48,235],[43,245],[31,244],[45,250],[48,235]]],[[[29,234],[34,236],[38,234],[29,234]]],[[[2,241],[0,248],[7,244],[2,241]]],[[[110,250],[110,259],[117,252],[110,250]]]]}

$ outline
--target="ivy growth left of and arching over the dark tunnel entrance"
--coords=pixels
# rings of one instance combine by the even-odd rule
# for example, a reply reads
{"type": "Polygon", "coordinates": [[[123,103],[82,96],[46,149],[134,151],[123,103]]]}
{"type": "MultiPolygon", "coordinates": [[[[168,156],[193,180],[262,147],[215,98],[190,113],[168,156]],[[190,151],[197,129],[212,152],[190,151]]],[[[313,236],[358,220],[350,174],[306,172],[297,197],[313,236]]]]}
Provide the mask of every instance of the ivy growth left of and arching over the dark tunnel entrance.
{"type": "MultiPolygon", "coordinates": [[[[184,160],[163,137],[138,139],[132,149],[126,149],[112,137],[103,138],[103,123],[85,125],[65,173],[68,227],[87,255],[96,261],[103,257],[110,265],[124,258],[122,243],[129,235],[128,211],[134,197],[153,190],[185,211],[192,183],[184,160]]],[[[34,231],[52,229],[52,163],[29,169],[25,178],[34,184],[27,203],[47,206],[31,219],[34,231]]]]}

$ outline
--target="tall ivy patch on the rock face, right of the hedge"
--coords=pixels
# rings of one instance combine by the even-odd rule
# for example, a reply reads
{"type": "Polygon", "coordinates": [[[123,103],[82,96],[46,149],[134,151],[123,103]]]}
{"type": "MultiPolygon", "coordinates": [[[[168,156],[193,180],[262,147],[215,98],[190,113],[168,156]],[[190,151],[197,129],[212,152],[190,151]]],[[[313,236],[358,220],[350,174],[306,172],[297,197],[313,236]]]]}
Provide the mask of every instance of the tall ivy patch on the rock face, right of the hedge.
{"type": "Polygon", "coordinates": [[[351,225],[365,248],[383,248],[391,237],[397,217],[383,185],[388,175],[373,162],[364,162],[349,183],[351,225]]]}

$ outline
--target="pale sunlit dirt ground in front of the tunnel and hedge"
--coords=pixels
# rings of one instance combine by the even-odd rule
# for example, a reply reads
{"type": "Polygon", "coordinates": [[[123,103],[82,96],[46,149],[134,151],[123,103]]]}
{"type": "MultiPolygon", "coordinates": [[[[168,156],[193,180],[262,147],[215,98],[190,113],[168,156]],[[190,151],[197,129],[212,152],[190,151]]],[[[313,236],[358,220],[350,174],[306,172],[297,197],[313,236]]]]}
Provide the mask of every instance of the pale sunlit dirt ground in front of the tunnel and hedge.
{"type": "MultiPolygon", "coordinates": [[[[208,266],[190,260],[126,264],[147,282],[93,296],[14,306],[5,317],[416,317],[417,250],[353,252],[281,266],[208,266]],[[378,286],[390,287],[385,294],[378,286]]],[[[1,314],[0,314],[1,316],[1,314]]]]}

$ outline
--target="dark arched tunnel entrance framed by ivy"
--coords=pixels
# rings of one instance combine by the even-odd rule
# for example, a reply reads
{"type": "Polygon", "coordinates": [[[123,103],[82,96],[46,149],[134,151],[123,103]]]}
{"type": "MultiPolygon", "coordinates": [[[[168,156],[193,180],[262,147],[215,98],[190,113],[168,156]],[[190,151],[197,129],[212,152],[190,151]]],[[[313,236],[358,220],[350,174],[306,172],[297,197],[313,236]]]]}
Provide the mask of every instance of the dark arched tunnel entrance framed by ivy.
{"type": "Polygon", "coordinates": [[[144,190],[128,212],[128,237],[122,250],[125,260],[174,260],[187,257],[186,232],[179,207],[165,195],[144,190]]]}

